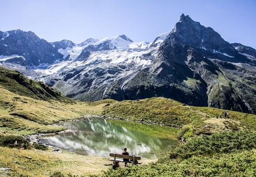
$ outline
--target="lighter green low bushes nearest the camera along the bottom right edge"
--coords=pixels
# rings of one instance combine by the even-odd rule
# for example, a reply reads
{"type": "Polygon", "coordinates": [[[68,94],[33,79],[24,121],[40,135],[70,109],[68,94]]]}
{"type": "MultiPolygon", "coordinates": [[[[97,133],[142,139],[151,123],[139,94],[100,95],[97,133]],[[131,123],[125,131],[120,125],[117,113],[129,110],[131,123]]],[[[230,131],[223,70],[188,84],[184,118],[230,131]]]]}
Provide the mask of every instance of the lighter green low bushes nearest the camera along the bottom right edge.
{"type": "Polygon", "coordinates": [[[183,161],[132,165],[108,170],[101,177],[255,177],[256,151],[194,156],[183,161]]]}

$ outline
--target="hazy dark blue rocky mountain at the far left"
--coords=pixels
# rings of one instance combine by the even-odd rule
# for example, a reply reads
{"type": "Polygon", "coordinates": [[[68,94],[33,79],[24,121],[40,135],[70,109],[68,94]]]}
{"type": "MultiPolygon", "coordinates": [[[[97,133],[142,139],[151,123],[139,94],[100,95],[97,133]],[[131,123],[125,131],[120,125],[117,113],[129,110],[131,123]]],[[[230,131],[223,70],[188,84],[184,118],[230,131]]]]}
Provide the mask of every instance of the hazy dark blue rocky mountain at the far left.
{"type": "Polygon", "coordinates": [[[32,31],[11,30],[0,32],[0,55],[23,56],[26,64],[37,66],[40,63],[53,63],[63,58],[51,44],[40,39],[32,31]]]}

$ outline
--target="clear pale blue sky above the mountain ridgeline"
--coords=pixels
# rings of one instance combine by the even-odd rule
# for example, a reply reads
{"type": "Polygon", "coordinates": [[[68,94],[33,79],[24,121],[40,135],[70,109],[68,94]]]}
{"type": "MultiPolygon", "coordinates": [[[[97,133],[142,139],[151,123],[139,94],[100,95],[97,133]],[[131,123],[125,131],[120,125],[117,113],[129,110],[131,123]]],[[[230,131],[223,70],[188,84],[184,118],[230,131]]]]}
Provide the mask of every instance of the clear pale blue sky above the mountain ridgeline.
{"type": "Polygon", "coordinates": [[[0,0],[0,30],[31,30],[50,42],[118,34],[150,42],[182,13],[256,48],[256,0],[0,0]]]}

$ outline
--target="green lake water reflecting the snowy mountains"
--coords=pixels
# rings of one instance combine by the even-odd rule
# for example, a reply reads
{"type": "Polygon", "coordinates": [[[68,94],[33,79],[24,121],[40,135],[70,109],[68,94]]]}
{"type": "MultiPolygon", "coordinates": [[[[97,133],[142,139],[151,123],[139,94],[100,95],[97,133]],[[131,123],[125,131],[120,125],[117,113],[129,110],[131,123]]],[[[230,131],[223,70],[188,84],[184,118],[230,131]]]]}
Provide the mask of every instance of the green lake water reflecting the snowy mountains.
{"type": "Polygon", "coordinates": [[[142,123],[88,118],[61,125],[77,132],[43,137],[41,143],[65,148],[75,153],[109,157],[109,153],[129,154],[142,158],[158,158],[167,148],[178,146],[177,129],[142,123]]]}

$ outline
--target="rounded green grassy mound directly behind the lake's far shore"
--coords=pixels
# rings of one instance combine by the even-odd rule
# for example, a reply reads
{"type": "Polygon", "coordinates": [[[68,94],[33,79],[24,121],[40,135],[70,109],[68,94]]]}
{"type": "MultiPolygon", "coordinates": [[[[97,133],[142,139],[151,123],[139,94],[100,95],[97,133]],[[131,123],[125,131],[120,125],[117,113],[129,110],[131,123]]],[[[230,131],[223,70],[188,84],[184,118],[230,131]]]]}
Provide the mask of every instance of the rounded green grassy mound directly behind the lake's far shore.
{"type": "Polygon", "coordinates": [[[164,123],[181,127],[196,118],[205,118],[204,113],[192,110],[184,104],[166,98],[148,98],[143,100],[126,100],[106,107],[103,114],[132,120],[143,119],[147,122],[164,123]]]}

